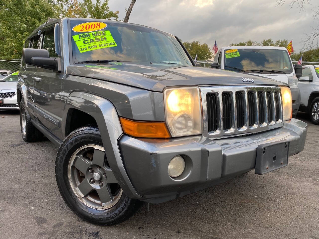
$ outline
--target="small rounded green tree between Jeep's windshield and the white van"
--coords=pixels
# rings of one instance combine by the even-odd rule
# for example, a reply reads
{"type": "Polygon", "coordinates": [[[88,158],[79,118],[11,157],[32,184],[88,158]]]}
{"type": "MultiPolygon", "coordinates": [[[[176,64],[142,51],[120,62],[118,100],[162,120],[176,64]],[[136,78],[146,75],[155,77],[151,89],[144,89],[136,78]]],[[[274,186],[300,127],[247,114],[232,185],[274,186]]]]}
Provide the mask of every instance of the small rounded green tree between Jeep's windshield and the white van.
{"type": "Polygon", "coordinates": [[[183,45],[193,59],[195,58],[196,54],[198,61],[207,61],[213,57],[213,53],[206,43],[200,43],[199,41],[185,41],[183,42],[183,45]]]}

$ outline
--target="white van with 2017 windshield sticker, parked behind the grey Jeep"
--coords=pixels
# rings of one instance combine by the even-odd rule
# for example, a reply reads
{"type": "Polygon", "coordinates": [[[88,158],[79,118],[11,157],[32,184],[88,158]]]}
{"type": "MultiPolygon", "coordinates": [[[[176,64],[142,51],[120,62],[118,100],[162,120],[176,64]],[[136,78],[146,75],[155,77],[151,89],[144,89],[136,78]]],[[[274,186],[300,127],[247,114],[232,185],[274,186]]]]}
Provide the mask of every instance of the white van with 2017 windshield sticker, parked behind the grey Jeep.
{"type": "Polygon", "coordinates": [[[293,98],[293,117],[297,115],[300,104],[297,77],[301,76],[302,67],[293,65],[285,47],[221,47],[211,67],[264,76],[288,84],[293,98]]]}

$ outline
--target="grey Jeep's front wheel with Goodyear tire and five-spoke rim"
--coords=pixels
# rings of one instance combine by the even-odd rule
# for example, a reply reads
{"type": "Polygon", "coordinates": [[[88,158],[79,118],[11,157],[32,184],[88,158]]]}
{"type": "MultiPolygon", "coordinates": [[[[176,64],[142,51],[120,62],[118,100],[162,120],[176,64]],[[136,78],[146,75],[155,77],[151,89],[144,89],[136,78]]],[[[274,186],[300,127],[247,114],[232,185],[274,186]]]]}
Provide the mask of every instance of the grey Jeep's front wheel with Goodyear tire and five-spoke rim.
{"type": "Polygon", "coordinates": [[[56,182],[70,209],[95,224],[113,225],[132,216],[141,202],[128,198],[109,167],[100,131],[73,131],[56,156],[56,182]]]}

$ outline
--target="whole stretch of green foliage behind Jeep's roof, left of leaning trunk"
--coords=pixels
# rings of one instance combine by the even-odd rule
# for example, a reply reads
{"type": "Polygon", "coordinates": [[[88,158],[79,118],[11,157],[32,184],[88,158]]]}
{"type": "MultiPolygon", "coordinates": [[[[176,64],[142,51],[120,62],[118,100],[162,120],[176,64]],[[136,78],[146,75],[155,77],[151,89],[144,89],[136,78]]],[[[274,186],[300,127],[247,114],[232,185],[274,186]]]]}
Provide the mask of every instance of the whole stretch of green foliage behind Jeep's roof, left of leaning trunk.
{"type": "Polygon", "coordinates": [[[0,0],[0,59],[21,58],[24,41],[49,18],[118,19],[108,0],[0,0]]]}

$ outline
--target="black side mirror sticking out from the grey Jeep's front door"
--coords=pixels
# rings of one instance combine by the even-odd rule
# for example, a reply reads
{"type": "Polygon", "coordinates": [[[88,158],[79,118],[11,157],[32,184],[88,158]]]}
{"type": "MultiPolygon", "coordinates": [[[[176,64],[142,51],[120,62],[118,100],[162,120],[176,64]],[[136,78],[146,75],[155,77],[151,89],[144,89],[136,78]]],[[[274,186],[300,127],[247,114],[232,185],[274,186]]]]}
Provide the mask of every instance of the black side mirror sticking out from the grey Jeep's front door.
{"type": "Polygon", "coordinates": [[[49,57],[49,52],[45,49],[23,48],[22,57],[26,64],[61,72],[60,58],[49,57]]]}

